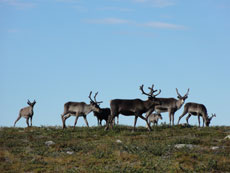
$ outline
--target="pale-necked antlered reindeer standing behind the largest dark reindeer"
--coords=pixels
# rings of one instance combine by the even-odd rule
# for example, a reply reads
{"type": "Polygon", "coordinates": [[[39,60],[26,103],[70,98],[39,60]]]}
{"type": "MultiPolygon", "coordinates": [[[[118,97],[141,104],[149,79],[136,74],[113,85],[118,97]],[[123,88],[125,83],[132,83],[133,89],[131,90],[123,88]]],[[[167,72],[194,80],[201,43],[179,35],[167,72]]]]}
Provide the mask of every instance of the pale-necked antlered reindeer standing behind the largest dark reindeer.
{"type": "MultiPolygon", "coordinates": [[[[168,112],[170,125],[174,125],[174,114],[177,110],[181,108],[185,100],[188,98],[189,89],[183,97],[180,95],[177,88],[176,93],[178,100],[175,98],[156,98],[156,100],[159,101],[161,104],[155,106],[155,111],[157,113],[168,112]]],[[[147,116],[149,114],[150,113],[148,112],[147,116]]]]}

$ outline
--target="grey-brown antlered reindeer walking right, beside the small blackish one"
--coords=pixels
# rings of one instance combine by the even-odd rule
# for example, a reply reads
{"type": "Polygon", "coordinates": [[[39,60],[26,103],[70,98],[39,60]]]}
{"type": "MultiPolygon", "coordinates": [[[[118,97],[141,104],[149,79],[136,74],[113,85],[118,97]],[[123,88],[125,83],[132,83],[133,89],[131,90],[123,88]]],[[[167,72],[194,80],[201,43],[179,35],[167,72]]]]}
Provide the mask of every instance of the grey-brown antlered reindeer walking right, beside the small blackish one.
{"type": "Polygon", "coordinates": [[[86,104],[85,102],[67,102],[64,104],[64,112],[61,114],[62,123],[63,123],[63,129],[66,128],[65,121],[67,118],[69,118],[71,115],[76,116],[75,122],[74,122],[74,128],[77,124],[78,117],[83,116],[85,123],[87,127],[89,127],[88,121],[86,119],[86,116],[92,112],[100,112],[100,108],[98,106],[98,103],[91,99],[92,91],[89,94],[90,104],[86,104]]]}

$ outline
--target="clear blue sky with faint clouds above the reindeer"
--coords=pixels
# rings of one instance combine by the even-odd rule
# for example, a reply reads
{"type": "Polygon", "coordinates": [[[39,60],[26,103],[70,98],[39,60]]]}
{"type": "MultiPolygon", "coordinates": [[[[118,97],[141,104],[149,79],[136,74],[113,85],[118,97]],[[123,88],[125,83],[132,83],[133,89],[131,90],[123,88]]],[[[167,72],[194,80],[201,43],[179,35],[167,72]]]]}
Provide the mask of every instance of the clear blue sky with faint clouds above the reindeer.
{"type": "MultiPolygon", "coordinates": [[[[101,107],[144,100],[141,84],[155,84],[159,97],[190,88],[186,102],[216,113],[212,125],[229,125],[229,18],[228,0],[0,0],[0,126],[12,126],[27,99],[37,100],[35,126],[61,125],[65,102],[89,103],[91,90],[101,107]]],[[[97,124],[92,113],[87,119],[97,124]]]]}

